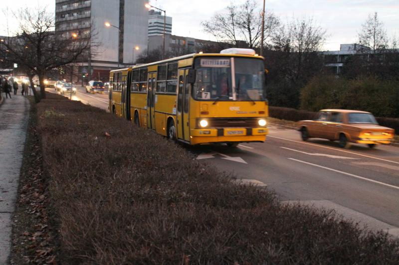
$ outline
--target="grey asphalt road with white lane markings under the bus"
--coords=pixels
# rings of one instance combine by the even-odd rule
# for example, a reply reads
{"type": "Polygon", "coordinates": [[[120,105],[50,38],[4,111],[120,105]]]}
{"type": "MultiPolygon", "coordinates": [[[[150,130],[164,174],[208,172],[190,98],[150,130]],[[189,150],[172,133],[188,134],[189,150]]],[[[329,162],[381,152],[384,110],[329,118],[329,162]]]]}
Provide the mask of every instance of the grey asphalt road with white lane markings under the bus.
{"type": "MultiPolygon", "coordinates": [[[[108,109],[107,93],[78,88],[72,99],[108,109]]],[[[341,149],[328,140],[303,142],[292,128],[272,125],[269,130],[265,143],[186,148],[221,171],[267,184],[284,203],[335,209],[361,226],[399,236],[398,147],[353,144],[341,149]]]]}

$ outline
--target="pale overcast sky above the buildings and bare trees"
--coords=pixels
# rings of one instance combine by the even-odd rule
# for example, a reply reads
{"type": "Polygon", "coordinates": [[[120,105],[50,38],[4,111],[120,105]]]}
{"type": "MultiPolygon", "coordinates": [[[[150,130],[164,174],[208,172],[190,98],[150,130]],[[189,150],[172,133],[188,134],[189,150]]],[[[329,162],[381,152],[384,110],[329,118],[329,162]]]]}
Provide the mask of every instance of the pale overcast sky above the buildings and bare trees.
{"type": "MultiPolygon", "coordinates": [[[[98,0],[93,0],[98,1],[98,0]]],[[[230,2],[239,4],[245,0],[151,0],[151,4],[166,9],[173,17],[172,34],[213,40],[206,35],[200,22],[220,12],[230,2]]],[[[263,0],[255,0],[259,8],[263,0]]],[[[16,10],[19,7],[34,8],[40,2],[49,10],[55,9],[55,0],[1,0],[0,8],[16,10]]],[[[273,11],[284,22],[292,17],[313,17],[327,30],[325,50],[339,50],[342,43],[354,43],[361,26],[370,13],[378,12],[389,37],[399,38],[399,0],[266,0],[266,9],[273,11]]],[[[9,12],[8,12],[9,13],[9,12]]],[[[0,13],[0,35],[7,35],[5,15],[0,13]]],[[[8,17],[10,32],[17,22],[8,17]]]]}

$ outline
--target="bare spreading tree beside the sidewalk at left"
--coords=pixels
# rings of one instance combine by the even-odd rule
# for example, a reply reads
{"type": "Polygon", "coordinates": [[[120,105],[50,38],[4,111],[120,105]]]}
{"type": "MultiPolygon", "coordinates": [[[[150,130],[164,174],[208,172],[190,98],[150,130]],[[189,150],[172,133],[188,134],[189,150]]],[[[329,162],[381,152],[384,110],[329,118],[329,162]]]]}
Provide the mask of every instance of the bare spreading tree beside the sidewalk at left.
{"type": "MultiPolygon", "coordinates": [[[[54,13],[42,7],[20,9],[15,16],[19,20],[16,36],[4,39],[0,49],[8,53],[10,61],[37,75],[40,97],[45,98],[44,79],[49,71],[88,58],[93,28],[75,38],[56,32],[54,13]]],[[[39,100],[36,94],[35,98],[39,100]]]]}

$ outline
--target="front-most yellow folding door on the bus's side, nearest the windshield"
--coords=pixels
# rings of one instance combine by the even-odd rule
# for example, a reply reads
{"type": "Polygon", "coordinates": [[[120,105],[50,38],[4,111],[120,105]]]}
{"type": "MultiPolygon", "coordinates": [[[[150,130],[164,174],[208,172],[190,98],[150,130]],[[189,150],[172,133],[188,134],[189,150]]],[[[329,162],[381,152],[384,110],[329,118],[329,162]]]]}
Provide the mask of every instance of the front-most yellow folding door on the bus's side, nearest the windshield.
{"type": "Polygon", "coordinates": [[[190,142],[189,102],[190,84],[187,82],[188,69],[179,70],[179,91],[177,109],[177,133],[179,139],[190,142]]]}

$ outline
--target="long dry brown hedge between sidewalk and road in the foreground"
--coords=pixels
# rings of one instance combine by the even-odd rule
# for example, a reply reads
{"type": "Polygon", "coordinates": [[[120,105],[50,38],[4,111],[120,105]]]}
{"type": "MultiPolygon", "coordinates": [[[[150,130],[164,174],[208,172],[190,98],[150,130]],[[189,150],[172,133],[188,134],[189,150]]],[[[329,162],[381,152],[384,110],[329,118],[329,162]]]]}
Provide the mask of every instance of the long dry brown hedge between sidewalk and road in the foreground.
{"type": "Polygon", "coordinates": [[[397,264],[399,242],[280,206],[150,130],[56,95],[38,104],[64,264],[397,264]],[[105,133],[111,136],[107,137],[105,133]]]}

